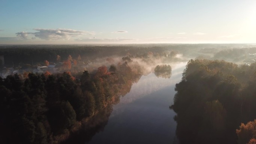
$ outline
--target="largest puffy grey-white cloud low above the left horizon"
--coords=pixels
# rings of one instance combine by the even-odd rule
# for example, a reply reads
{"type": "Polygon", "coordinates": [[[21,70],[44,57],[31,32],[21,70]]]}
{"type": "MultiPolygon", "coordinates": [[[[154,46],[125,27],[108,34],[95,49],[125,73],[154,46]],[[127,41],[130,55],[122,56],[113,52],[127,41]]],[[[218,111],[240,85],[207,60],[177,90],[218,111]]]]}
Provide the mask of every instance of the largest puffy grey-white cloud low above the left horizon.
{"type": "Polygon", "coordinates": [[[20,37],[21,39],[27,39],[28,35],[32,35],[33,37],[31,39],[35,39],[36,37],[43,40],[69,40],[71,37],[87,34],[87,35],[95,35],[94,32],[89,31],[77,31],[72,29],[63,29],[63,28],[57,28],[57,29],[42,29],[42,28],[34,28],[34,33],[28,33],[28,32],[19,32],[16,33],[17,37],[20,37]]]}

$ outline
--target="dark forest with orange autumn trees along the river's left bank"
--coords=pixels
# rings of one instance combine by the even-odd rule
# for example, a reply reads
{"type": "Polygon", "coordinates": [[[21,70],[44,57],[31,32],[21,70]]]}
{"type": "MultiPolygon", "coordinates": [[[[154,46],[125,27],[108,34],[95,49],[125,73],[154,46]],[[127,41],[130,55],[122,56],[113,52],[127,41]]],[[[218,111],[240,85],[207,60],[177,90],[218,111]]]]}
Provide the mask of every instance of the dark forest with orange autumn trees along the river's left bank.
{"type": "Polygon", "coordinates": [[[92,74],[84,71],[79,79],[70,72],[0,78],[0,143],[61,143],[103,108],[119,102],[140,76],[125,62],[92,74]]]}

